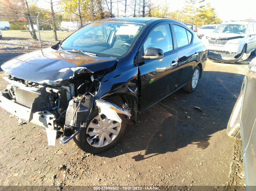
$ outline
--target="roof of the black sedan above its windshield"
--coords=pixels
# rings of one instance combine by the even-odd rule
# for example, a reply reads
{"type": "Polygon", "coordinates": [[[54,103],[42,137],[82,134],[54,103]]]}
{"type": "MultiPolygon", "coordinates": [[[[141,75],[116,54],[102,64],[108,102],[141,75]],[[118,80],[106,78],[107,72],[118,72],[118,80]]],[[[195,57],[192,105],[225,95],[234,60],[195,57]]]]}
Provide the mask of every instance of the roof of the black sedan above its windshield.
{"type": "MultiPolygon", "coordinates": [[[[131,22],[131,23],[151,23],[155,21],[171,21],[171,22],[176,22],[179,24],[183,24],[179,21],[175,21],[172,19],[166,19],[166,18],[154,18],[154,17],[115,17],[115,18],[106,18],[106,19],[101,19],[98,21],[110,21],[110,22],[131,22]]],[[[184,25],[184,24],[183,24],[184,25]]]]}

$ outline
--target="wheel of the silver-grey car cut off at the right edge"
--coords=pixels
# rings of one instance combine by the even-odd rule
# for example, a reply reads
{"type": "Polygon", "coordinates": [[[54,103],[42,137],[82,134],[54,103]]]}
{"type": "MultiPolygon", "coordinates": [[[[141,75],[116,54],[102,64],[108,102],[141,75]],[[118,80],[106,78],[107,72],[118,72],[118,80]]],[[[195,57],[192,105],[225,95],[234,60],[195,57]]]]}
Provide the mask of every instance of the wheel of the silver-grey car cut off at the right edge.
{"type": "Polygon", "coordinates": [[[240,115],[241,115],[242,94],[238,97],[234,109],[228,121],[227,134],[229,137],[241,140],[240,115]]]}

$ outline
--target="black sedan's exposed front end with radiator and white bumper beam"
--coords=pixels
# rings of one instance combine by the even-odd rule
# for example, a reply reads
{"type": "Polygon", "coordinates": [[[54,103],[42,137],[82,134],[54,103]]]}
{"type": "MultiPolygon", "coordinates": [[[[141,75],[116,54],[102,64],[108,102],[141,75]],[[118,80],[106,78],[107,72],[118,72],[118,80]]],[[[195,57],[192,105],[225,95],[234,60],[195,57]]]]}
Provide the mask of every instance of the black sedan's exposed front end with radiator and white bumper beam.
{"type": "Polygon", "coordinates": [[[74,84],[44,86],[4,77],[10,84],[0,94],[0,106],[15,115],[18,124],[32,123],[46,131],[48,144],[55,145],[59,127],[63,124],[67,100],[74,96],[74,84]]]}

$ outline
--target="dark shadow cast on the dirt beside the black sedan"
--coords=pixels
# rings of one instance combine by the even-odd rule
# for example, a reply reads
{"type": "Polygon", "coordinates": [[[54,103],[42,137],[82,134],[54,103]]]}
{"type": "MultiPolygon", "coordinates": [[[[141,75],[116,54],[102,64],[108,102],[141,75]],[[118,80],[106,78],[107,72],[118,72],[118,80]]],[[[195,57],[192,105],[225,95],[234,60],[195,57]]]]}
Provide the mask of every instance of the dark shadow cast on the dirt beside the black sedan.
{"type": "Polygon", "coordinates": [[[212,134],[226,128],[243,78],[228,72],[203,72],[196,91],[177,91],[141,113],[135,126],[127,126],[115,148],[98,155],[113,158],[135,152],[132,158],[141,161],[175,153],[190,144],[195,149],[207,148],[212,134]]]}

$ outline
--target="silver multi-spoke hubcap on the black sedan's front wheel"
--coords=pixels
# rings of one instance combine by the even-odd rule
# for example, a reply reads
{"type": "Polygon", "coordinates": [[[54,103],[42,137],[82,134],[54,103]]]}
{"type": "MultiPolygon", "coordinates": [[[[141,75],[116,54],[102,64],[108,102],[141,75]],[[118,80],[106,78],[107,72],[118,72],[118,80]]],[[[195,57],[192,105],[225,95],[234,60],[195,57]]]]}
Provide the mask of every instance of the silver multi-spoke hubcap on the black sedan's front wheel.
{"type": "Polygon", "coordinates": [[[117,137],[120,129],[121,123],[101,114],[92,119],[88,125],[86,140],[93,147],[104,147],[117,137]]]}

